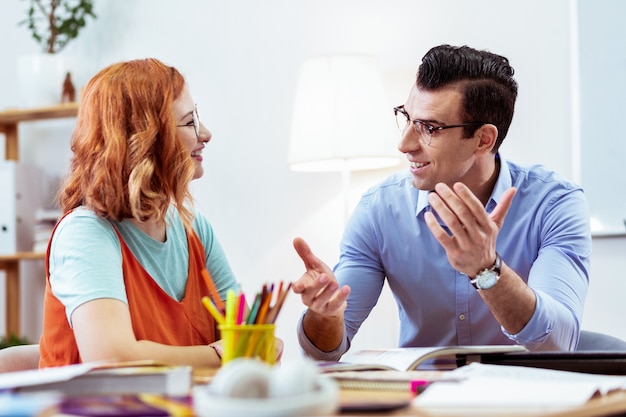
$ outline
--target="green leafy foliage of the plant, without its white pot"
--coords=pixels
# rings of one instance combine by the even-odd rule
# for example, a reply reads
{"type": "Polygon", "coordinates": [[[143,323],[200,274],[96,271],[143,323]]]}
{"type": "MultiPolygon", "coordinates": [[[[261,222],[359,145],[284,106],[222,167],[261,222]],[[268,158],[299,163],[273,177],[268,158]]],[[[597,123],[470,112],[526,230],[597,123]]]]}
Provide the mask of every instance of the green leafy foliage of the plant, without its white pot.
{"type": "Polygon", "coordinates": [[[29,0],[28,16],[19,22],[30,31],[44,52],[61,51],[87,24],[96,18],[93,0],[29,0]]]}

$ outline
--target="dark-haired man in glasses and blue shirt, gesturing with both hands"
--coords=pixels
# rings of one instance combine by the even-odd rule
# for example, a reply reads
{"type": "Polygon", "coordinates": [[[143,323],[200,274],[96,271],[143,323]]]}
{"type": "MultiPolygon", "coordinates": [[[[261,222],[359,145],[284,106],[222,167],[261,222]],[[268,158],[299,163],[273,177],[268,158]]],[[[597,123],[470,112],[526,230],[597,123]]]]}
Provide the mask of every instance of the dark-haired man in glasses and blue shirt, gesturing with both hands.
{"type": "MultiPolygon", "coordinates": [[[[304,352],[338,360],[385,279],[399,346],[521,344],[573,350],[591,237],[582,189],[500,156],[517,83],[505,57],[441,45],[393,112],[409,169],[366,192],[331,270],[300,238],[304,352]]],[[[367,88],[367,86],[364,86],[367,88]]],[[[382,138],[381,138],[382,140],[382,138]]]]}

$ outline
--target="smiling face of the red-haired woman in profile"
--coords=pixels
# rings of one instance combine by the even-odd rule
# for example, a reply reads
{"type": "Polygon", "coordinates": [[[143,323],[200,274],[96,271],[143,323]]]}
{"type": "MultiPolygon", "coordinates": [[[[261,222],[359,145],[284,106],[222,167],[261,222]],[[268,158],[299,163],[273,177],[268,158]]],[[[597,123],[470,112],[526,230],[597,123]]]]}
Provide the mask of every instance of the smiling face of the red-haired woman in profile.
{"type": "Polygon", "coordinates": [[[196,105],[187,87],[185,87],[180,97],[174,101],[174,117],[179,129],[179,137],[183,145],[189,150],[191,159],[196,164],[196,172],[193,178],[200,178],[204,173],[202,150],[205,144],[211,140],[211,132],[200,122],[196,105]]]}

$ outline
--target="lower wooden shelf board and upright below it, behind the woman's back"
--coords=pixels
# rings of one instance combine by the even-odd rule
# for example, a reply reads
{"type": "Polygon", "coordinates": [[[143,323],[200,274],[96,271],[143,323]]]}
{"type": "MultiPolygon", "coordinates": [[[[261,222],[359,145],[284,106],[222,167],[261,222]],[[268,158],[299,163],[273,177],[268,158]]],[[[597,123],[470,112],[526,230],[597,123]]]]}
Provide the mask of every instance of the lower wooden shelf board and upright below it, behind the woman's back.
{"type": "Polygon", "coordinates": [[[44,259],[45,253],[18,252],[12,255],[0,255],[0,270],[6,274],[5,302],[5,333],[20,336],[20,262],[44,259]]]}

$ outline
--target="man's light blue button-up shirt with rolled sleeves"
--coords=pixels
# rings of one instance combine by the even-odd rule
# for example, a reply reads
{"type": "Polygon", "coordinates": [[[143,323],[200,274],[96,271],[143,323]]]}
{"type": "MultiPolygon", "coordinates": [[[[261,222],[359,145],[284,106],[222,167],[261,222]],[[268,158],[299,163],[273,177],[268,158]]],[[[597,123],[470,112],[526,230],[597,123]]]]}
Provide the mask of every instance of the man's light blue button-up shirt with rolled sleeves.
{"type": "MultiPolygon", "coordinates": [[[[499,157],[499,156],[498,156],[499,157]]],[[[515,335],[496,321],[467,275],[450,265],[424,221],[428,192],[411,184],[408,171],[366,192],[346,227],[335,266],[351,293],[341,345],[319,351],[298,325],[304,353],[338,360],[376,305],[385,279],[398,307],[404,346],[523,344],[533,350],[572,350],[589,285],[591,233],[582,189],[542,166],[502,160],[486,206],[517,187],[496,250],[537,295],[535,312],[515,335]]]]}

